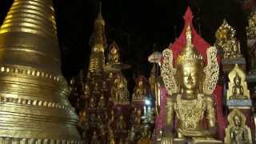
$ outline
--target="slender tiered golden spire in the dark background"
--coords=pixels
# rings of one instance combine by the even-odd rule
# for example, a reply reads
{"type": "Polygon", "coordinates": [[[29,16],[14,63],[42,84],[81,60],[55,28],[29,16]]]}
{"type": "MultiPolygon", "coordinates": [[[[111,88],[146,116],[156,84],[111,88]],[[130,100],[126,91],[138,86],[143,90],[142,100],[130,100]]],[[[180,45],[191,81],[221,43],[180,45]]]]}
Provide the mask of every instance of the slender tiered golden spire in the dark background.
{"type": "Polygon", "coordinates": [[[91,55],[89,70],[98,73],[104,69],[106,49],[105,21],[102,18],[102,3],[99,5],[98,18],[94,21],[94,32],[90,38],[91,55]]]}

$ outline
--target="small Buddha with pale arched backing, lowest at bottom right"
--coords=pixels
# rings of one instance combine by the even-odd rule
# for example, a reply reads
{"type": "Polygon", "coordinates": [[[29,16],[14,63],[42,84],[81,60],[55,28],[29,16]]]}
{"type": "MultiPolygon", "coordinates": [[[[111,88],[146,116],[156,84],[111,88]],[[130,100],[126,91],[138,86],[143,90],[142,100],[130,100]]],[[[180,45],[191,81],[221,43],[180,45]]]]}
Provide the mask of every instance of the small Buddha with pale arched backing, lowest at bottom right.
{"type": "Polygon", "coordinates": [[[229,125],[225,132],[226,144],[252,144],[251,131],[246,126],[246,117],[240,110],[235,108],[228,116],[229,125]]]}

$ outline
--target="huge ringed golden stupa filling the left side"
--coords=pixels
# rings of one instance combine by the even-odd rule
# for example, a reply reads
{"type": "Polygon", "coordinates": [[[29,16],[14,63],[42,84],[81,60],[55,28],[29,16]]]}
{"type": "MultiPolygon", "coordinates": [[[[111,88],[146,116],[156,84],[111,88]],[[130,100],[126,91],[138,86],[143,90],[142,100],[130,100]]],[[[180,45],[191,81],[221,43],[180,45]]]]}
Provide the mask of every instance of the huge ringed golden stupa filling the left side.
{"type": "Polygon", "coordinates": [[[51,0],[14,0],[0,28],[0,143],[78,143],[51,0]]]}

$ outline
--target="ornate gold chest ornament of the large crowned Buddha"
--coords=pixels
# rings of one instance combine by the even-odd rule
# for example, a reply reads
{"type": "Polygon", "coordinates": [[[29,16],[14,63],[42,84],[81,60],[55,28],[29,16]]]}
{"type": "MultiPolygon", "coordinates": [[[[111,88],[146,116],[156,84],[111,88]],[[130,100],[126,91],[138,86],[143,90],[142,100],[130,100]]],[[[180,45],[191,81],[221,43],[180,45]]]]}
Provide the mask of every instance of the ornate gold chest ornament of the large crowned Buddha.
{"type": "Polygon", "coordinates": [[[196,129],[204,117],[206,103],[203,102],[202,96],[194,100],[182,100],[181,96],[178,96],[174,110],[180,126],[185,129],[196,129]]]}

